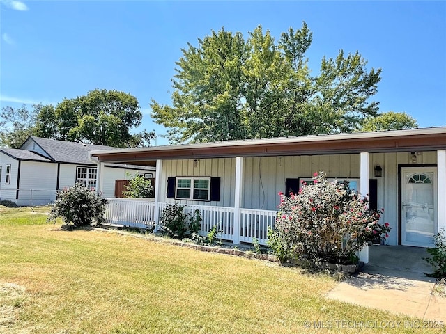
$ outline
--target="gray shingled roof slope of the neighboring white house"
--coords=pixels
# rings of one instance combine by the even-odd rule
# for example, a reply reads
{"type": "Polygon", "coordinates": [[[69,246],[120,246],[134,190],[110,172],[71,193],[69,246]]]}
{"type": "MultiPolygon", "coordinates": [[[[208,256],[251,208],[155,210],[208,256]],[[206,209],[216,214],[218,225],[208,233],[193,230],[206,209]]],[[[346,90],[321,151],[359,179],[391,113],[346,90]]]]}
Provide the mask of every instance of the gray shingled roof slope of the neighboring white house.
{"type": "Polygon", "coordinates": [[[72,143],[71,141],[55,141],[54,139],[31,136],[52,159],[56,162],[66,162],[71,164],[93,164],[89,160],[91,150],[116,150],[111,146],[104,145],[84,145],[82,143],[72,143]]]}

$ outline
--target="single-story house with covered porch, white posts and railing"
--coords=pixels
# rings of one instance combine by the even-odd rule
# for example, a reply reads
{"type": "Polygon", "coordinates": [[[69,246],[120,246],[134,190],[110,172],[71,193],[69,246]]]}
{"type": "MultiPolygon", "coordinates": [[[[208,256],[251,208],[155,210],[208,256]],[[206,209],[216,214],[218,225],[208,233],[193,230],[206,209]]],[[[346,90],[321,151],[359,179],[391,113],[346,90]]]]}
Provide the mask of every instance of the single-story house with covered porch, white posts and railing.
{"type": "Polygon", "coordinates": [[[234,244],[266,244],[279,196],[323,170],[348,180],[383,208],[390,223],[389,245],[433,246],[446,228],[446,127],[386,132],[223,141],[90,152],[98,159],[98,190],[105,164],[156,167],[155,200],[110,199],[111,223],[158,223],[162,209],[179,202],[199,209],[201,233],[218,224],[220,237],[234,244]]]}

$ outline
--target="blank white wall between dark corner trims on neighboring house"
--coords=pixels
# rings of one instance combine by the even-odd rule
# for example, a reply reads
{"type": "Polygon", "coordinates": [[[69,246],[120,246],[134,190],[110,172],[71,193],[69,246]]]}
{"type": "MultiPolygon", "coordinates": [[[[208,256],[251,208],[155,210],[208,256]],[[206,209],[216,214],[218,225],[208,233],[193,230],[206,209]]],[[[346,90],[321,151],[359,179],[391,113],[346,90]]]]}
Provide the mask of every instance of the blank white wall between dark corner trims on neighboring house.
{"type": "Polygon", "coordinates": [[[57,164],[22,161],[17,205],[47,205],[56,200],[57,164]],[[31,194],[32,190],[32,194],[31,194]]]}

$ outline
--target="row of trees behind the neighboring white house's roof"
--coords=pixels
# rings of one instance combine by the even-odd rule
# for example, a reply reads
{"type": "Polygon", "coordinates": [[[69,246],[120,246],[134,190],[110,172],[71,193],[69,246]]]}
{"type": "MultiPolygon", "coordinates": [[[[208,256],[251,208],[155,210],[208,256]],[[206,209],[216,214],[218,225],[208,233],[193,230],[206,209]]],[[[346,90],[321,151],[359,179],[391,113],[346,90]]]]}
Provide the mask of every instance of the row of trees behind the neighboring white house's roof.
{"type": "Polygon", "coordinates": [[[32,111],[26,106],[3,108],[0,144],[17,148],[27,136],[34,135],[119,148],[148,146],[155,132],[144,129],[130,134],[130,129],[141,125],[141,119],[136,97],[117,90],[96,89],[84,96],[63,99],[56,106],[33,105],[32,111]]]}

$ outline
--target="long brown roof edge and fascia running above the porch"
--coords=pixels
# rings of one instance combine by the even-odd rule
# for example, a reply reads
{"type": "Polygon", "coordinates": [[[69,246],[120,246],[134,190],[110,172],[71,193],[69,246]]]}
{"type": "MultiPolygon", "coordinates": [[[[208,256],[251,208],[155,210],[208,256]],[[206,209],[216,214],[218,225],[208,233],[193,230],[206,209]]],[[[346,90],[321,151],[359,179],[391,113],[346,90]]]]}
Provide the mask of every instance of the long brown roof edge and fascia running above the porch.
{"type": "Polygon", "coordinates": [[[389,132],[224,141],[153,148],[92,151],[101,162],[155,166],[157,159],[274,157],[446,149],[446,127],[389,132]]]}

